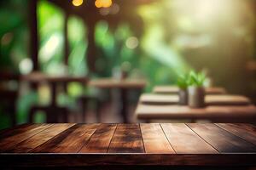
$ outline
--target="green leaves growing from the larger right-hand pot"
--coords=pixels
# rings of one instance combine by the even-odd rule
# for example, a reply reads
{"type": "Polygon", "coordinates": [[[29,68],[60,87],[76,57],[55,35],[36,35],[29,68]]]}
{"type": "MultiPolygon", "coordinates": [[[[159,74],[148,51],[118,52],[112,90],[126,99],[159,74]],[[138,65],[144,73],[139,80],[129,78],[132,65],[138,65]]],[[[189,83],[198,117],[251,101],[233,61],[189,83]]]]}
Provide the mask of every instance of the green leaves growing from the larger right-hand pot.
{"type": "Polygon", "coordinates": [[[206,75],[203,72],[189,72],[189,86],[202,87],[206,80],[206,75]]]}

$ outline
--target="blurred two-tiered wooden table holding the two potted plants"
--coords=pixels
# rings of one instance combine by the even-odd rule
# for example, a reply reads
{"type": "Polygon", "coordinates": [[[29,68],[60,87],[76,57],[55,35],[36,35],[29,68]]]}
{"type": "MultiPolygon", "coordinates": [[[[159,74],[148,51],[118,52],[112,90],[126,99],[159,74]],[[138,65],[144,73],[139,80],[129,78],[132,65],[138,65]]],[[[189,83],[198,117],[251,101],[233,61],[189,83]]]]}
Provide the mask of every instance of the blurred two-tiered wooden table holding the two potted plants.
{"type": "Polygon", "coordinates": [[[256,122],[256,107],[250,99],[239,95],[207,95],[206,107],[177,105],[177,95],[143,94],[136,110],[138,119],[208,120],[211,122],[256,122]]]}

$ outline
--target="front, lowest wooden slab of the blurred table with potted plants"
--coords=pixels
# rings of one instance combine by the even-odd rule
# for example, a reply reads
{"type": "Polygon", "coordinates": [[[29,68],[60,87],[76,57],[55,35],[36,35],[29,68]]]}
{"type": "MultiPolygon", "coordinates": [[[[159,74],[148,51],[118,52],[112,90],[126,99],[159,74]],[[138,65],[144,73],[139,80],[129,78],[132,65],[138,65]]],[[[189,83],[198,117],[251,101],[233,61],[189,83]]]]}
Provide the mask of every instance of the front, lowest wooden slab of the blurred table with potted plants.
{"type": "Polygon", "coordinates": [[[212,105],[194,109],[187,105],[138,104],[135,114],[141,120],[208,120],[211,122],[256,122],[254,105],[212,105]]]}

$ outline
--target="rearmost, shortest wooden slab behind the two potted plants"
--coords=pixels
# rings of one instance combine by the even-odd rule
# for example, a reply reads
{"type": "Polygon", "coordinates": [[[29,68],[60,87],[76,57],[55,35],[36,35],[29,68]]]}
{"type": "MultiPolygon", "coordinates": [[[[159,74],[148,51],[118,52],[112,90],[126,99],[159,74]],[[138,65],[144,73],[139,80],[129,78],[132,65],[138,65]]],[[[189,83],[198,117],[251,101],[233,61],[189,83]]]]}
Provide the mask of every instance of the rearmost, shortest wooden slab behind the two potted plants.
{"type": "MultiPolygon", "coordinates": [[[[177,86],[156,86],[153,88],[155,94],[177,94],[179,88],[177,86]]],[[[224,88],[211,87],[206,88],[206,94],[226,94],[224,88]]]]}

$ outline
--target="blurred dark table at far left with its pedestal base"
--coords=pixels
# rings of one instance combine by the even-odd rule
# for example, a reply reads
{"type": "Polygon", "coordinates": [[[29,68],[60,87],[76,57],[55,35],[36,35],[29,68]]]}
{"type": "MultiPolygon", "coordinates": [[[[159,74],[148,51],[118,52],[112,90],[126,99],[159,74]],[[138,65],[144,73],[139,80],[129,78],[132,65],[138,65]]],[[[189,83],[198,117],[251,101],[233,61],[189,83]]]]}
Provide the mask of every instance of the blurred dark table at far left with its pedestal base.
{"type": "MultiPolygon", "coordinates": [[[[86,84],[88,82],[87,77],[73,77],[73,76],[48,76],[40,72],[34,72],[29,75],[21,77],[22,81],[31,82],[31,83],[49,83],[51,89],[51,103],[49,106],[36,107],[35,110],[44,110],[47,111],[47,122],[57,122],[57,117],[55,115],[58,112],[66,111],[66,107],[60,107],[57,105],[57,86],[65,86],[68,82],[80,82],[86,84]]],[[[67,117],[65,116],[64,122],[67,122],[67,117]]]]}

